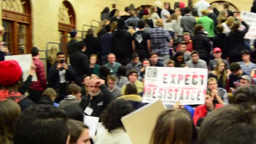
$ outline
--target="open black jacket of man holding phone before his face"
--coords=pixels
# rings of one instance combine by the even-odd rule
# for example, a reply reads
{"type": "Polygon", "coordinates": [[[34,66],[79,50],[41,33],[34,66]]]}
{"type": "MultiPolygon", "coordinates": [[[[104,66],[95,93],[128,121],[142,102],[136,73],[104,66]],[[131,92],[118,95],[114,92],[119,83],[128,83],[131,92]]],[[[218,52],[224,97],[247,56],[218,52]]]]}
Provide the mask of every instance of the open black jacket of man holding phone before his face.
{"type": "MultiPolygon", "coordinates": [[[[47,80],[48,80],[48,87],[51,87],[58,93],[59,83],[60,83],[60,74],[59,74],[59,70],[57,70],[57,64],[49,70],[49,73],[47,74],[47,80]]],[[[76,80],[76,73],[71,66],[68,66],[68,69],[66,70],[67,87],[73,81],[75,82],[75,80],[76,80]]]]}

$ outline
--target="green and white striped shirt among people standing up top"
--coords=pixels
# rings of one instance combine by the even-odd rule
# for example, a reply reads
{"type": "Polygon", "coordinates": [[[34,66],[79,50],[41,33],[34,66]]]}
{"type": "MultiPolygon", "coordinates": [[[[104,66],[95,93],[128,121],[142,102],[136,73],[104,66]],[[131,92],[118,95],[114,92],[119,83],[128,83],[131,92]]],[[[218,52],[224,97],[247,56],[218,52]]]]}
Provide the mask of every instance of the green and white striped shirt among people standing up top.
{"type": "Polygon", "coordinates": [[[214,37],[214,22],[207,15],[202,16],[196,22],[197,24],[201,24],[204,27],[204,30],[207,31],[207,37],[214,37]]]}

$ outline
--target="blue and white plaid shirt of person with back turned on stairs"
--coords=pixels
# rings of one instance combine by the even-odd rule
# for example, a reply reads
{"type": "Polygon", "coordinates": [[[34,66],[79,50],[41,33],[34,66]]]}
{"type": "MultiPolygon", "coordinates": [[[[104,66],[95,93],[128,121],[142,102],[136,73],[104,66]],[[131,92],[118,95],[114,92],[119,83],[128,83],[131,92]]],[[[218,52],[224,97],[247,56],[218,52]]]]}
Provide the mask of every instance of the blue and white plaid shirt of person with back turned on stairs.
{"type": "Polygon", "coordinates": [[[158,55],[169,54],[169,42],[171,36],[167,30],[162,27],[155,27],[150,31],[151,50],[158,55]]]}

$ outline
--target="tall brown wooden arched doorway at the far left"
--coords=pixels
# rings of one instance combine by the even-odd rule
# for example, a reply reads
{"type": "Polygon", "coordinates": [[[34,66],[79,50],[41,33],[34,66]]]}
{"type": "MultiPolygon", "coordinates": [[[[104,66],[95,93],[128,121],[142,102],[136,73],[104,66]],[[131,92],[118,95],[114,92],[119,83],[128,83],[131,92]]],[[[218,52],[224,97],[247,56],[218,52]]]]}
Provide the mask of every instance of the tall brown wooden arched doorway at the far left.
{"type": "Polygon", "coordinates": [[[2,20],[11,54],[30,53],[32,47],[31,5],[29,0],[2,0],[2,20]]]}

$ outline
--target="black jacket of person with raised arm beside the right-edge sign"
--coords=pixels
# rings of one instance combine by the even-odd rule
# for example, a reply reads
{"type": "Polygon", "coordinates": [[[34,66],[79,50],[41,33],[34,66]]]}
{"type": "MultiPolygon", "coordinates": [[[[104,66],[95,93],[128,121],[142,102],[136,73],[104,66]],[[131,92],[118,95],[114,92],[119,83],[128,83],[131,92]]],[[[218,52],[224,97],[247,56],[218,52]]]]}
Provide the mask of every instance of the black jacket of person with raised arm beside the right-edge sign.
{"type": "Polygon", "coordinates": [[[244,43],[244,36],[249,30],[249,26],[242,21],[242,25],[245,26],[244,30],[238,30],[236,32],[230,32],[227,35],[227,46],[229,56],[241,55],[241,51],[247,50],[244,43]]]}

